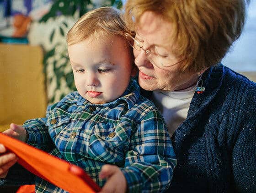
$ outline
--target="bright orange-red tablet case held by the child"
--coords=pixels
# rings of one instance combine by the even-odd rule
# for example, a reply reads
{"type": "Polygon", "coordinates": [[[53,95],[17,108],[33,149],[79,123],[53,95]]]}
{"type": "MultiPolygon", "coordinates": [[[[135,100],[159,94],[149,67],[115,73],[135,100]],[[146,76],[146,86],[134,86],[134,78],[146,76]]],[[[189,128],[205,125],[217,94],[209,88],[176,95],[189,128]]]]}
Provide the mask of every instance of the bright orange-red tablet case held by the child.
{"type": "Polygon", "coordinates": [[[18,163],[28,171],[69,193],[95,193],[101,190],[78,166],[2,133],[0,143],[14,152],[19,157],[18,163]]]}

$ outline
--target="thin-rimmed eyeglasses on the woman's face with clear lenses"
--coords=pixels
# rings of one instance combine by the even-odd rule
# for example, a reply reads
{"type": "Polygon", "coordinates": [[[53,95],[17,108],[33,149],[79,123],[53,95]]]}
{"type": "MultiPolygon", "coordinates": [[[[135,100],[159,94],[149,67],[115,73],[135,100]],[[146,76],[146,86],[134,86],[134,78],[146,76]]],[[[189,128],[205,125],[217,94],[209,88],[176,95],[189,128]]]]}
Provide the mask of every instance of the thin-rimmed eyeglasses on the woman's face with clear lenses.
{"type": "Polygon", "coordinates": [[[157,54],[154,51],[151,51],[149,49],[144,50],[143,45],[141,44],[141,42],[136,40],[133,36],[131,36],[128,33],[125,33],[125,37],[126,37],[128,43],[129,43],[129,45],[132,46],[133,49],[138,50],[138,51],[143,50],[144,52],[146,52],[146,55],[147,55],[149,61],[153,65],[158,66],[159,68],[174,66],[174,65],[179,64],[183,61],[183,60],[181,60],[181,61],[178,61],[176,63],[172,63],[171,61],[176,60],[176,58],[161,56],[161,55],[159,55],[159,54],[157,54]]]}

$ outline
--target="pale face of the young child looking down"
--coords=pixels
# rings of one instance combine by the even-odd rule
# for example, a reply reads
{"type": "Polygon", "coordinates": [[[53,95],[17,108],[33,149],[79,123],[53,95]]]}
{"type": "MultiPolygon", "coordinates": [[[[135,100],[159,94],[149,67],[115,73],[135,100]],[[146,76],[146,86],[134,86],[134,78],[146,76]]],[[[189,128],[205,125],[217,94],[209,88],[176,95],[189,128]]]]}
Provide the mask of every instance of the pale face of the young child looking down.
{"type": "Polygon", "coordinates": [[[124,39],[113,36],[97,41],[90,37],[68,46],[75,86],[91,103],[117,99],[128,87],[131,56],[124,39]]]}

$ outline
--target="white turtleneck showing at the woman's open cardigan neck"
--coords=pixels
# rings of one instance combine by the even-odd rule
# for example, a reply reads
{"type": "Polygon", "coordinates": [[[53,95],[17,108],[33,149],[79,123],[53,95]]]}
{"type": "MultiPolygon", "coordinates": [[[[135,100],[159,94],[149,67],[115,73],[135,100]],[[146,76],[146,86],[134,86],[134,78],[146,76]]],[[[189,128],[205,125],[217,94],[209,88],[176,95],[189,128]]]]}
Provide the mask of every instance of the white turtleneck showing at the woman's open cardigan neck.
{"type": "Polygon", "coordinates": [[[180,91],[153,92],[153,101],[165,119],[170,136],[187,118],[194,93],[195,85],[180,91]]]}

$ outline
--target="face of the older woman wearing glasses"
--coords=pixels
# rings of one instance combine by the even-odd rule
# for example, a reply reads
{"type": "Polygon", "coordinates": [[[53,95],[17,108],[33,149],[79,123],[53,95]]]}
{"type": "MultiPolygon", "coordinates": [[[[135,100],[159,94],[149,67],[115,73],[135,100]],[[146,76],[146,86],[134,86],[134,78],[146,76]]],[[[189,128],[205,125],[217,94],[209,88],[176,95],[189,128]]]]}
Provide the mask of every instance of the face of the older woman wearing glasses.
{"type": "MultiPolygon", "coordinates": [[[[152,64],[146,52],[133,49],[135,64],[139,68],[139,85],[148,91],[176,91],[192,86],[197,81],[197,73],[181,73],[181,59],[172,54],[175,42],[171,39],[172,24],[160,15],[146,11],[139,20],[135,39],[144,50],[153,50],[162,59],[169,60],[168,67],[152,64]],[[177,64],[176,64],[177,63],[177,64]]],[[[159,61],[159,60],[158,60],[159,61]]]]}

